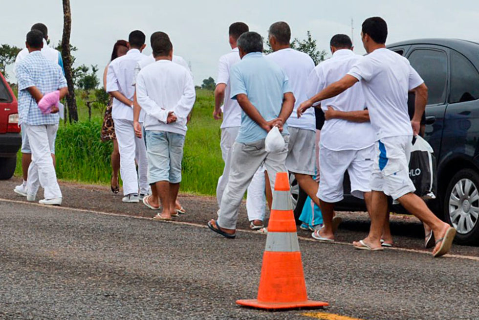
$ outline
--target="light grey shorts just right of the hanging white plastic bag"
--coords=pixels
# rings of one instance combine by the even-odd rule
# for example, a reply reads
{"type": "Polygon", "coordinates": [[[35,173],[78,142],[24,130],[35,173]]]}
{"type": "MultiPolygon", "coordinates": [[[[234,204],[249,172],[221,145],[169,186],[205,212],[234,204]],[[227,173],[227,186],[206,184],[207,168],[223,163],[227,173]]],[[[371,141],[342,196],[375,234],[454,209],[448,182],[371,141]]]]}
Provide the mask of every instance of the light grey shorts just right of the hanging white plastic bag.
{"type": "Polygon", "coordinates": [[[316,132],[307,129],[288,127],[289,144],[286,169],[293,173],[316,175],[314,160],[316,132]]]}

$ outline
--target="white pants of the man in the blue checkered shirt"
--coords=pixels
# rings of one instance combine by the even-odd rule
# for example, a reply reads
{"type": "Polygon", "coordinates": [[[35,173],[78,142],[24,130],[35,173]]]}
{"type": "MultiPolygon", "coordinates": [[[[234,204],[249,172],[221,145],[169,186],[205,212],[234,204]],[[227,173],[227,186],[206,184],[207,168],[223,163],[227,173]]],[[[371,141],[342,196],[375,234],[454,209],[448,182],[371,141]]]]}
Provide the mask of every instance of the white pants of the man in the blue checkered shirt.
{"type": "Polygon", "coordinates": [[[22,130],[26,130],[32,151],[32,162],[28,167],[26,185],[28,194],[35,196],[41,185],[44,188],[45,199],[61,198],[62,191],[57,182],[50,150],[51,146],[55,145],[58,124],[38,126],[22,124],[22,130]]]}

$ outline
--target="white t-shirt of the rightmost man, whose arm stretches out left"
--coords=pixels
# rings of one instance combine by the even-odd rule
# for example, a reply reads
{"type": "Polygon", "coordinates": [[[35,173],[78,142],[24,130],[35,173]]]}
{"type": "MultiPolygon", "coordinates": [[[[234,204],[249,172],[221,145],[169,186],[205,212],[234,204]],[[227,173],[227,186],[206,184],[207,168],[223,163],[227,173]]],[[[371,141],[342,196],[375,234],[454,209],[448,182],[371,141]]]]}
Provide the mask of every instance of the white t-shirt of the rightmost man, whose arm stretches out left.
{"type": "Polygon", "coordinates": [[[424,80],[408,59],[380,48],[362,57],[348,74],[361,82],[376,140],[413,135],[408,92],[424,80]]]}

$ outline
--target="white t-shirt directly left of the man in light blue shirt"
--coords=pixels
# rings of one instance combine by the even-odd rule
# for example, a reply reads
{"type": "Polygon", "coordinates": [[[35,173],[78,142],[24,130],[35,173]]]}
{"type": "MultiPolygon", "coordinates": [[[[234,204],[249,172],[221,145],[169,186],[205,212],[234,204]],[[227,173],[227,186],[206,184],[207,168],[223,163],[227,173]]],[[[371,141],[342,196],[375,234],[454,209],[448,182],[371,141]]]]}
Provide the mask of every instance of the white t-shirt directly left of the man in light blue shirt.
{"type": "Polygon", "coordinates": [[[230,69],[241,60],[238,48],[232,49],[230,52],[219,58],[218,63],[218,78],[216,84],[224,83],[226,89],[224,90],[224,101],[221,109],[223,110],[223,122],[221,129],[229,127],[239,127],[241,125],[241,107],[238,101],[231,99],[230,91],[230,69]]]}

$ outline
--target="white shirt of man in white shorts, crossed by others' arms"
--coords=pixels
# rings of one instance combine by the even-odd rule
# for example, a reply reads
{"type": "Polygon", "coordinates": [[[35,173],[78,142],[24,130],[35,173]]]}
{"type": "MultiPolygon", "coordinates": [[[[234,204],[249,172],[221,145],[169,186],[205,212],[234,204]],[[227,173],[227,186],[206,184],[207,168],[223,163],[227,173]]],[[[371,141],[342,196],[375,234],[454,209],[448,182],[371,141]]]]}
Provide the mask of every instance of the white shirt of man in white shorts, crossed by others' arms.
{"type": "MultiPolygon", "coordinates": [[[[396,53],[397,54],[397,53],[396,53]]],[[[349,49],[337,50],[333,56],[320,63],[309,75],[307,96],[311,98],[331,83],[339,81],[362,56],[349,49]]],[[[321,101],[321,109],[350,112],[361,111],[366,107],[363,89],[359,83],[343,93],[321,101]]],[[[311,108],[312,109],[312,108],[311,108]]],[[[326,120],[321,129],[321,145],[329,150],[361,150],[374,144],[374,130],[370,122],[351,122],[342,119],[326,120]]]]}

